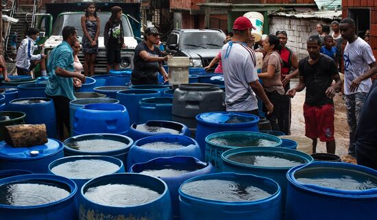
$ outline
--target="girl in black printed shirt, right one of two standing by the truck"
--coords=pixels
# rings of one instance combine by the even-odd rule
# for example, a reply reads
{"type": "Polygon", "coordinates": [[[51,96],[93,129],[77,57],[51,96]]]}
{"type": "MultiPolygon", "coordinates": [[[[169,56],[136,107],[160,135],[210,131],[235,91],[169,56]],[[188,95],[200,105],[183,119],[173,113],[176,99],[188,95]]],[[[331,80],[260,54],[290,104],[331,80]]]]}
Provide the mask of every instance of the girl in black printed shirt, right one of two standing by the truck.
{"type": "Polygon", "coordinates": [[[106,22],[104,29],[104,41],[106,55],[108,57],[108,73],[112,65],[114,65],[115,70],[119,70],[121,48],[125,48],[121,17],[122,8],[119,6],[112,7],[110,19],[106,22]]]}

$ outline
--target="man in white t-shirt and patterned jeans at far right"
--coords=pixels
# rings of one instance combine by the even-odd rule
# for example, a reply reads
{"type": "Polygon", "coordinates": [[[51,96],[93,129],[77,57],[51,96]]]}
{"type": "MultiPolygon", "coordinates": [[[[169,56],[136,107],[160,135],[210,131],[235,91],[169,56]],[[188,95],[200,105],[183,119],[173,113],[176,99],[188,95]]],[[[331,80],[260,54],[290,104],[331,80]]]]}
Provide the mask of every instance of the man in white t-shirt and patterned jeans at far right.
{"type": "Polygon", "coordinates": [[[339,23],[345,46],[344,59],[344,95],[347,106],[348,125],[350,127],[350,146],[348,154],[355,156],[355,132],[360,119],[365,98],[372,86],[372,77],[377,73],[376,59],[372,48],[362,38],[356,36],[354,20],[346,18],[339,23]]]}

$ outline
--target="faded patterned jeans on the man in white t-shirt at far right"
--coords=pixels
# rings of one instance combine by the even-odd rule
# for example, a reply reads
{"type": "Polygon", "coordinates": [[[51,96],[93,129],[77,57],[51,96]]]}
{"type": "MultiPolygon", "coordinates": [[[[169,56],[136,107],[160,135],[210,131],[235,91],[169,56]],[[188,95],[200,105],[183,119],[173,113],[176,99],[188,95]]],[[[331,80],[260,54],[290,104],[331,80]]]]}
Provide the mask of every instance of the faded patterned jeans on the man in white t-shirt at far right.
{"type": "Polygon", "coordinates": [[[355,133],[358,121],[360,119],[361,110],[368,93],[354,93],[344,95],[345,106],[347,107],[347,121],[350,127],[350,146],[348,154],[355,156],[355,133]]]}

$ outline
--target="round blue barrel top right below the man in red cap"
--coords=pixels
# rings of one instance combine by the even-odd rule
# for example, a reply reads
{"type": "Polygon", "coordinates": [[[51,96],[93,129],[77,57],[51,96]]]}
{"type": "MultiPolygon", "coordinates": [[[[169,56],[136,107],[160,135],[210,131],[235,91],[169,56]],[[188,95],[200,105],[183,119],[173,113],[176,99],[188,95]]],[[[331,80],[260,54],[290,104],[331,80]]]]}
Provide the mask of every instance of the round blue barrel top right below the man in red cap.
{"type": "Polygon", "coordinates": [[[259,117],[243,112],[205,112],[195,117],[200,123],[221,126],[240,126],[258,123],[259,117]],[[237,121],[238,120],[238,121],[237,121]]]}

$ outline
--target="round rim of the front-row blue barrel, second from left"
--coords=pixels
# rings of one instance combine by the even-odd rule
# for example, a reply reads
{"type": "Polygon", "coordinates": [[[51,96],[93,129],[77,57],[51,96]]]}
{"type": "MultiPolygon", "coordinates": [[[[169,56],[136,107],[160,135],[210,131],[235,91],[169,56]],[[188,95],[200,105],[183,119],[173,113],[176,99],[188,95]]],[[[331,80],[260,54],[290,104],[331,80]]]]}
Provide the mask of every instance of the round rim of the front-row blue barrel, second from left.
{"type": "MultiPolygon", "coordinates": [[[[139,186],[140,186],[140,185],[139,185],[139,186]]],[[[153,190],[153,189],[151,189],[151,190],[153,190]]],[[[85,200],[85,202],[89,202],[89,203],[91,203],[91,204],[95,204],[96,206],[101,206],[101,207],[111,207],[111,208],[117,208],[117,209],[121,209],[121,208],[122,208],[122,209],[123,209],[123,208],[134,208],[134,207],[138,207],[138,208],[140,208],[141,206],[148,206],[149,204],[153,204],[154,202],[158,201],[158,200],[161,199],[162,197],[165,197],[165,196],[169,195],[169,188],[168,188],[167,184],[166,184],[164,181],[162,181],[162,180],[159,179],[159,178],[155,178],[155,177],[153,177],[153,176],[150,176],[150,175],[143,175],[143,174],[140,174],[140,173],[113,173],[113,174],[110,174],[110,175],[102,175],[102,176],[100,176],[100,177],[98,177],[98,178],[93,178],[92,180],[89,180],[89,181],[86,182],[86,183],[82,186],[82,188],[80,189],[80,195],[81,195],[82,199],[85,200]],[[149,202],[147,202],[147,203],[145,203],[145,204],[138,204],[138,205],[134,205],[134,206],[121,206],[121,207],[119,207],[119,206],[105,206],[105,205],[103,205],[103,204],[95,203],[94,201],[91,201],[91,200],[89,200],[88,198],[85,197],[85,195],[84,195],[84,189],[88,188],[88,186],[89,186],[90,184],[93,184],[93,183],[95,183],[95,182],[99,182],[99,181],[101,181],[102,179],[104,179],[104,180],[110,180],[110,179],[111,179],[112,177],[114,177],[114,176],[119,176],[119,178],[121,178],[121,175],[123,175],[123,176],[127,176],[127,175],[129,175],[129,176],[132,176],[132,175],[136,176],[136,175],[139,175],[139,176],[143,176],[143,177],[147,177],[147,178],[152,178],[152,179],[154,179],[154,181],[158,181],[158,182],[160,182],[160,183],[165,187],[165,189],[164,189],[164,191],[161,193],[161,195],[158,196],[156,199],[151,200],[151,201],[149,201],[149,202]]],[[[170,197],[170,196],[169,196],[169,197],[170,197]]]]}

